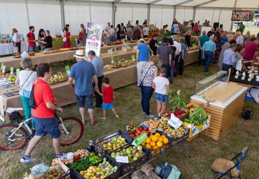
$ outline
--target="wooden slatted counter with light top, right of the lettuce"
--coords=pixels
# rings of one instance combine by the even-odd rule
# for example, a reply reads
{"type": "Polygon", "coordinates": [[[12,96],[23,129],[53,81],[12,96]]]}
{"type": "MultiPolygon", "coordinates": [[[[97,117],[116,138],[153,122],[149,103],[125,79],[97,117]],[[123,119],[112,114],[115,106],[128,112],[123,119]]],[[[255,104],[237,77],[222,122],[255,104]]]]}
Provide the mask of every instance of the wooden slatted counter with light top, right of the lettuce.
{"type": "Polygon", "coordinates": [[[209,102],[209,104],[207,103],[208,100],[205,100],[204,97],[202,97],[206,92],[191,96],[191,103],[196,105],[203,103],[206,112],[211,114],[210,126],[202,131],[202,133],[215,140],[219,140],[241,114],[246,91],[248,89],[235,83],[226,84],[227,83],[223,84],[223,86],[225,85],[225,88],[222,88],[221,90],[218,90],[219,88],[217,88],[217,85],[207,89],[208,100],[213,99],[213,96],[209,95],[214,94],[214,101],[209,102]],[[237,87],[234,87],[234,84],[237,85],[237,87]],[[224,90],[225,92],[222,92],[224,90]]]}

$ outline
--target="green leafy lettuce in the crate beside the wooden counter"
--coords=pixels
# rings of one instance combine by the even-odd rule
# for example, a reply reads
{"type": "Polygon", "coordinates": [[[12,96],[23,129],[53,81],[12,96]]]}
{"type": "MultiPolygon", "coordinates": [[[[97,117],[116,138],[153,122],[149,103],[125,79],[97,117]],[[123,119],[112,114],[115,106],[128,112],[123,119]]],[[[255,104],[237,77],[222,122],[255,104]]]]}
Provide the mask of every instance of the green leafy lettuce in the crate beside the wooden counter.
{"type": "Polygon", "coordinates": [[[194,112],[190,114],[188,119],[185,119],[185,122],[193,123],[194,125],[201,125],[207,119],[206,111],[200,106],[195,107],[194,112]]]}

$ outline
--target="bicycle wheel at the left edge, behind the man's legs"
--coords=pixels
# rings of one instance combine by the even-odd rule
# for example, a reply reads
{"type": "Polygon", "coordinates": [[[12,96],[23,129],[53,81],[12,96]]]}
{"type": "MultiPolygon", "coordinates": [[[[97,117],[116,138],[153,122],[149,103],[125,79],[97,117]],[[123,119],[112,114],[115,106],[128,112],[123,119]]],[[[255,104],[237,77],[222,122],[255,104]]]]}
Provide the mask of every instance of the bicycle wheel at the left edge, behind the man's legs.
{"type": "Polygon", "coordinates": [[[0,150],[15,150],[24,147],[28,139],[27,131],[16,124],[1,124],[0,125],[0,150]],[[18,128],[18,129],[17,129],[18,128]],[[16,132],[9,138],[12,134],[12,130],[16,130],[16,132]]]}

